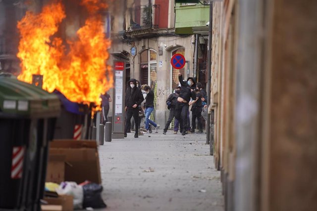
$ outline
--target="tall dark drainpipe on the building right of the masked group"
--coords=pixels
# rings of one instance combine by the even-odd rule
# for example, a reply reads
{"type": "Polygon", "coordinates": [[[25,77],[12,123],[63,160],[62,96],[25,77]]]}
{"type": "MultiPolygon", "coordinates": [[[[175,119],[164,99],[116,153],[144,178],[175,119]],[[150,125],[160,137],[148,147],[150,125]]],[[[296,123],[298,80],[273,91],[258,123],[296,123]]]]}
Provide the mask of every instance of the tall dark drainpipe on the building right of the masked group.
{"type": "MultiPolygon", "coordinates": [[[[208,106],[211,102],[211,43],[212,43],[212,2],[209,8],[209,34],[208,34],[208,63],[207,63],[207,98],[208,106]]],[[[208,114],[206,123],[206,144],[210,142],[210,114],[208,114]]]]}

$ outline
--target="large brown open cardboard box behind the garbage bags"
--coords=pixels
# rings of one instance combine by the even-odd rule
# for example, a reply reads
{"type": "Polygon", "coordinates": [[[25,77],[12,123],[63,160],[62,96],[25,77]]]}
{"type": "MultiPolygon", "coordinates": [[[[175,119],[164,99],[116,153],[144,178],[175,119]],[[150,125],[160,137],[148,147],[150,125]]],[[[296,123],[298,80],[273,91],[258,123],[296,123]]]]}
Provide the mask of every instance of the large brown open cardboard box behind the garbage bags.
{"type": "Polygon", "coordinates": [[[89,180],[101,184],[99,155],[94,140],[53,140],[51,155],[65,156],[64,181],[79,183],[89,180]]]}

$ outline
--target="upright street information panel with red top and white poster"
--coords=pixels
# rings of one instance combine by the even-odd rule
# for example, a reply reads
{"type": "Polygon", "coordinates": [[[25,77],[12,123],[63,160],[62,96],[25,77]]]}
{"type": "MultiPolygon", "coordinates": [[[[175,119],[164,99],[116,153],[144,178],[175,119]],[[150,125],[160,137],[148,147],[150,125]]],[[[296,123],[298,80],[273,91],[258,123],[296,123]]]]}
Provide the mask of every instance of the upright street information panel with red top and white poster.
{"type": "Polygon", "coordinates": [[[124,138],[124,90],[125,90],[125,61],[114,61],[114,97],[112,138],[124,138]]]}

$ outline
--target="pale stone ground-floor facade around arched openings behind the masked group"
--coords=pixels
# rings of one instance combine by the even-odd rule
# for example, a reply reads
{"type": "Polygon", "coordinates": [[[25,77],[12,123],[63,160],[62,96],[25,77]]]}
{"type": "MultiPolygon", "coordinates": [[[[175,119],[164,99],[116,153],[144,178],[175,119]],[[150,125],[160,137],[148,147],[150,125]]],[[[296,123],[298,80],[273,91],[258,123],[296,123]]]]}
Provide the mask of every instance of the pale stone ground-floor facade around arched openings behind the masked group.
{"type": "MultiPolygon", "coordinates": [[[[169,111],[166,107],[166,99],[168,96],[174,91],[175,87],[170,86],[170,73],[171,73],[171,52],[177,48],[184,47],[185,48],[185,59],[189,61],[190,71],[189,76],[193,76],[193,55],[194,55],[194,47],[195,44],[192,43],[193,37],[179,37],[179,36],[160,36],[154,38],[144,38],[142,40],[135,41],[134,44],[137,48],[137,55],[134,60],[130,59],[130,75],[131,78],[135,78],[140,80],[140,52],[146,49],[153,49],[157,51],[157,80],[156,80],[156,90],[155,90],[155,98],[156,98],[156,123],[161,126],[161,128],[165,125],[169,111]],[[159,55],[159,46],[162,47],[163,53],[159,55]]],[[[130,52],[131,45],[122,44],[122,50],[130,52]]],[[[119,49],[116,46],[116,49],[119,49]]],[[[185,69],[187,66],[185,66],[185,69]]]]}

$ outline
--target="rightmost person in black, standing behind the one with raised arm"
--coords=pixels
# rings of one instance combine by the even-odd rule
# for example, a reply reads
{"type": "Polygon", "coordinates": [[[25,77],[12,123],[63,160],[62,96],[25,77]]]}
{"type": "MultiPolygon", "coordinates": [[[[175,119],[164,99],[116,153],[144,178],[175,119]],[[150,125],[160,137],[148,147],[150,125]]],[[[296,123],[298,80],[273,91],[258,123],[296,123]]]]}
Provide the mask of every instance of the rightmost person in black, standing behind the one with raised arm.
{"type": "Polygon", "coordinates": [[[198,121],[198,129],[197,133],[203,133],[203,124],[202,124],[202,93],[198,88],[195,89],[196,91],[196,100],[193,100],[189,104],[192,105],[192,129],[191,133],[195,133],[196,129],[196,118],[198,121]]]}

